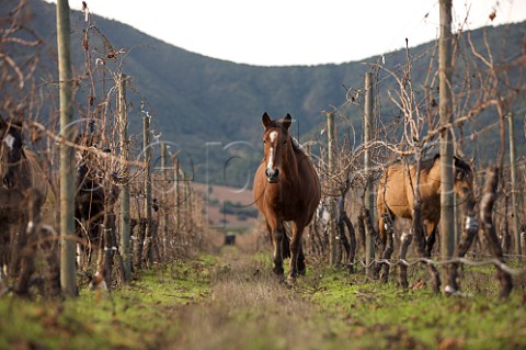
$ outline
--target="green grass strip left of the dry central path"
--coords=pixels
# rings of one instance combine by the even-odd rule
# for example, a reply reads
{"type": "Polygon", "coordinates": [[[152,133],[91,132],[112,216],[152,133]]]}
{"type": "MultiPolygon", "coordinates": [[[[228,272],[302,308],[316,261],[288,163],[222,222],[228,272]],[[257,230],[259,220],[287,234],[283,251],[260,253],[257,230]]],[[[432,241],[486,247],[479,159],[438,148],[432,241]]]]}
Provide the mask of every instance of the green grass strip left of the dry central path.
{"type": "Polygon", "coordinates": [[[174,262],[142,271],[112,291],[88,291],[66,301],[0,298],[0,349],[156,348],[173,307],[209,294],[214,259],[174,262]]]}

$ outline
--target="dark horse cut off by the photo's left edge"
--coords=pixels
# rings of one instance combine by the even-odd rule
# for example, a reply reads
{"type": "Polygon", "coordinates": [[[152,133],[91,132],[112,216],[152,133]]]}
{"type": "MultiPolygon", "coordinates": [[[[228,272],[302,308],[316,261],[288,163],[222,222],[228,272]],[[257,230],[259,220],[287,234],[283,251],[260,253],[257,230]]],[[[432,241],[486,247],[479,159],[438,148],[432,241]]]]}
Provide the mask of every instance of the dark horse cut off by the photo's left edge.
{"type": "Polygon", "coordinates": [[[10,279],[20,273],[30,205],[39,213],[48,182],[38,157],[23,148],[22,123],[0,116],[0,282],[9,267],[10,279]]]}

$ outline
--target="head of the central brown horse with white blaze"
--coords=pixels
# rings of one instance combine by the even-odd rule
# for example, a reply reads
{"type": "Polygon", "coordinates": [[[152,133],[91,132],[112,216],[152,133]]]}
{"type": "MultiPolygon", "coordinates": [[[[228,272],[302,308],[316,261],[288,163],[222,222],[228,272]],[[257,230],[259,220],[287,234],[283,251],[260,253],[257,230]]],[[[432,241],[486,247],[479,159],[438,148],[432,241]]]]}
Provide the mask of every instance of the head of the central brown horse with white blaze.
{"type": "Polygon", "coordinates": [[[262,116],[265,132],[263,134],[263,144],[265,148],[266,179],[270,183],[279,181],[279,169],[287,162],[288,155],[291,151],[293,143],[288,135],[288,128],[293,117],[287,114],[282,121],[272,120],[266,112],[262,116]]]}

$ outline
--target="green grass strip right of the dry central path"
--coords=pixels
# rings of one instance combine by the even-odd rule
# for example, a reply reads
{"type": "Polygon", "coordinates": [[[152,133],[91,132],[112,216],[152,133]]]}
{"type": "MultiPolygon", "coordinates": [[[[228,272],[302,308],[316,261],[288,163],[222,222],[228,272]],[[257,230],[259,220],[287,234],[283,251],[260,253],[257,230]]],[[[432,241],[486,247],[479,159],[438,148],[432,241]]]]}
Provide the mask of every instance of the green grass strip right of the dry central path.
{"type": "MultiPolygon", "coordinates": [[[[490,273],[494,280],[493,271],[476,270],[477,275],[490,273]]],[[[353,334],[356,348],[526,347],[524,289],[506,301],[495,297],[496,283],[485,294],[479,290],[474,296],[445,297],[432,294],[428,287],[403,291],[392,283],[380,284],[338,270],[318,274],[310,278],[316,280],[311,301],[339,320],[338,332],[353,334]]],[[[469,290],[469,279],[464,284],[469,290]]]]}

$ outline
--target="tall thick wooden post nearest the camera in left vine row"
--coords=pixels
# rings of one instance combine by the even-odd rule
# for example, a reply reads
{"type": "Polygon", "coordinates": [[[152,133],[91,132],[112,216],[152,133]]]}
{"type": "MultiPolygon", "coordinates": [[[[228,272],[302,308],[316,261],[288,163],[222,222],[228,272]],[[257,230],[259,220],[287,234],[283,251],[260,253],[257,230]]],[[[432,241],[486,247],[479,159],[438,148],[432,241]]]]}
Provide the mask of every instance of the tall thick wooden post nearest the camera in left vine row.
{"type": "Polygon", "coordinates": [[[58,76],[60,81],[60,285],[67,296],[77,295],[75,276],[75,148],[73,79],[71,72],[68,0],[57,1],[58,76]]]}

